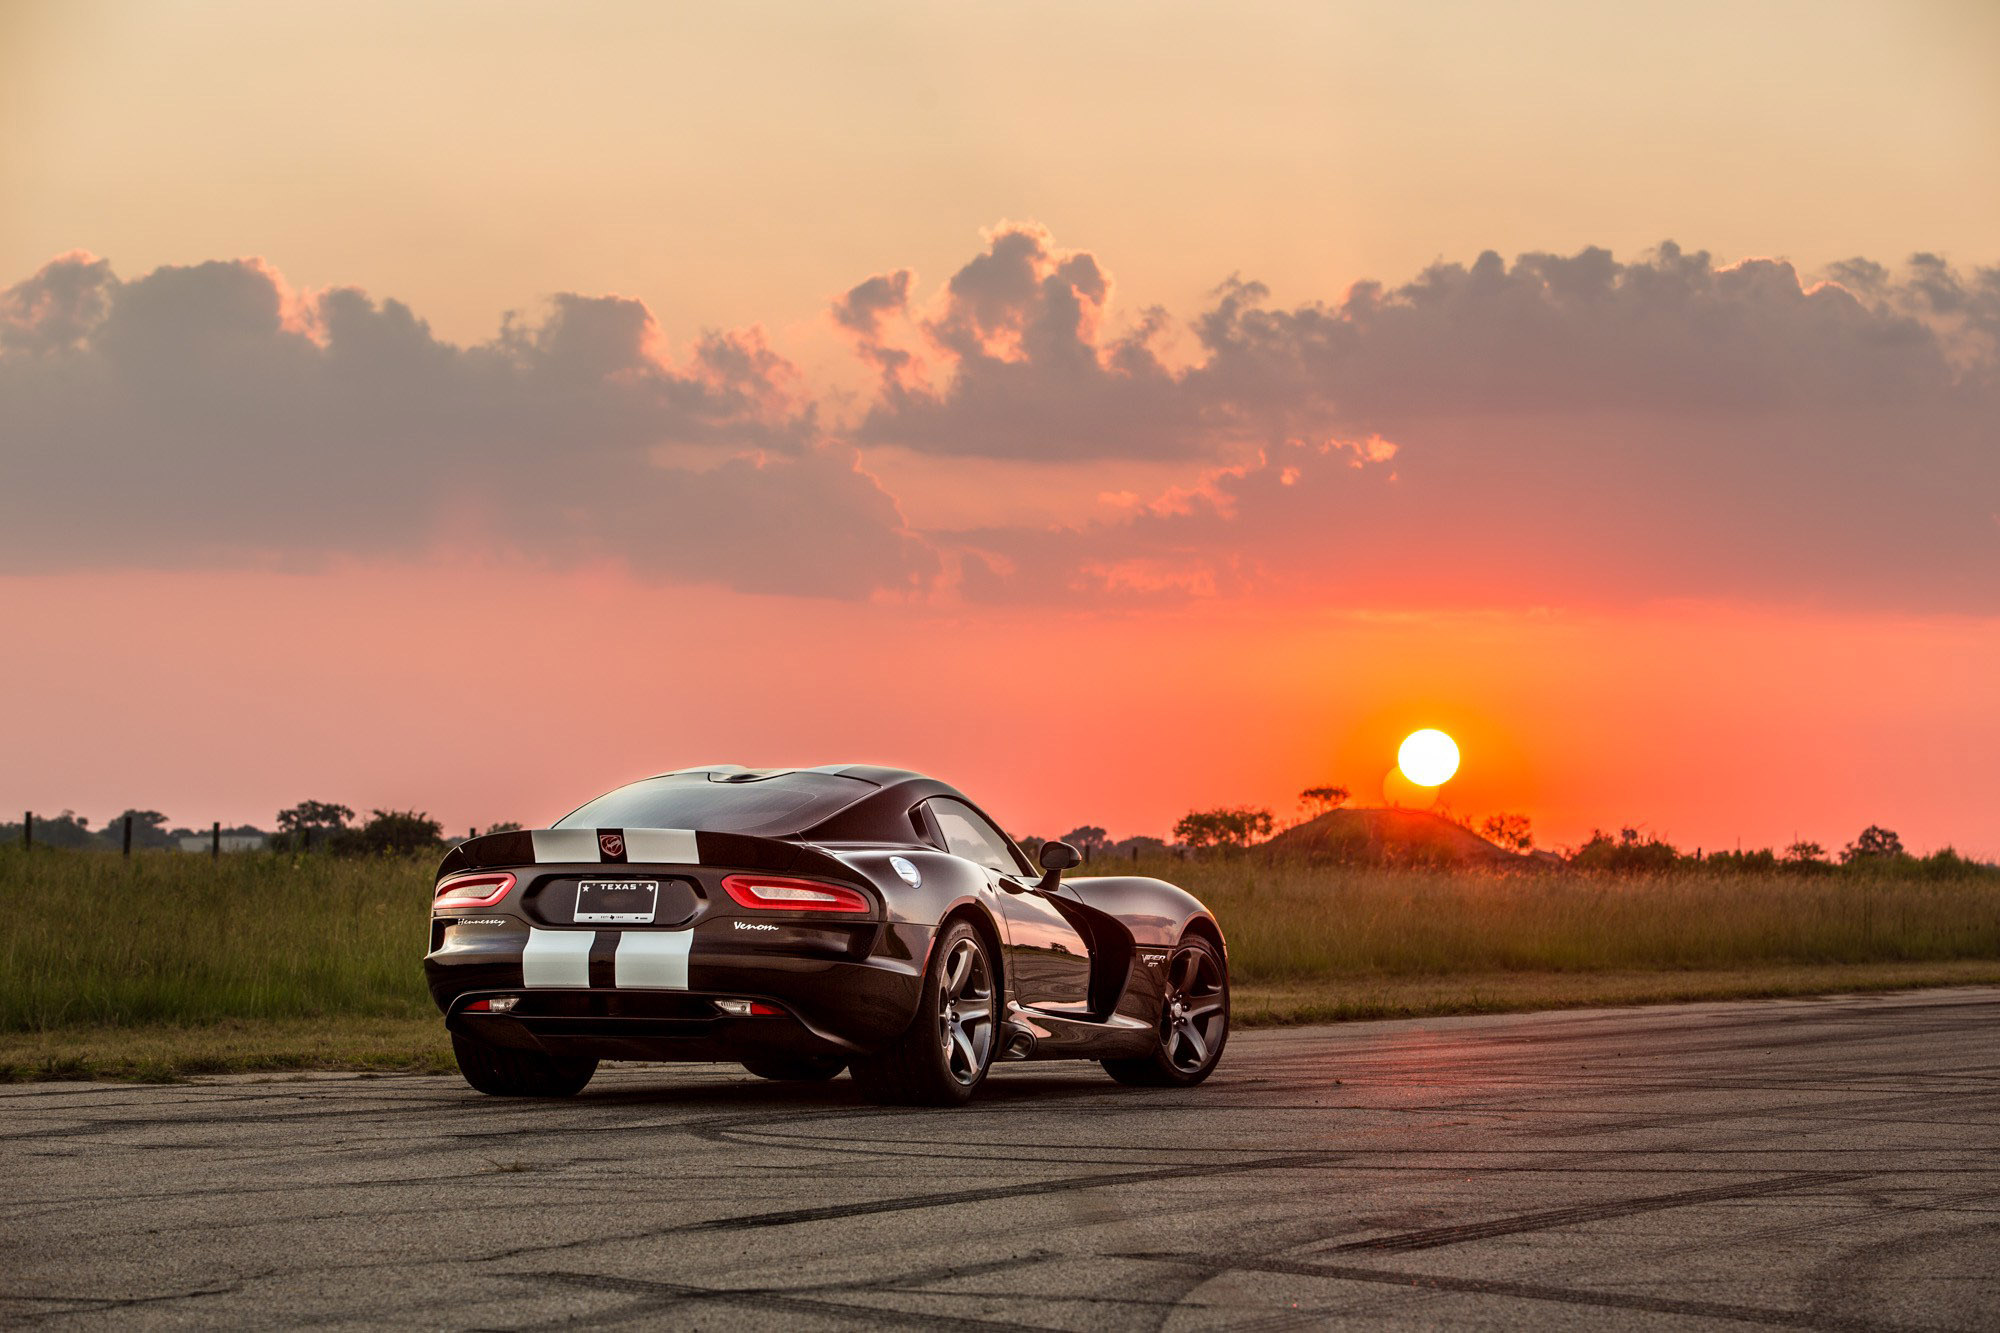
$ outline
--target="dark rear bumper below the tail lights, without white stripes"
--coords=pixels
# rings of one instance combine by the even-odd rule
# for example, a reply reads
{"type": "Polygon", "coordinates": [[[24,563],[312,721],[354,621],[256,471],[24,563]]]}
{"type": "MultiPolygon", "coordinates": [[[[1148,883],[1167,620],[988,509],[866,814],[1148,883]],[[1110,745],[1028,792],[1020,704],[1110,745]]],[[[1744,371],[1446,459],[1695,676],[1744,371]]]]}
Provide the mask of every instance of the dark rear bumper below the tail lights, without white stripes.
{"type": "MultiPolygon", "coordinates": [[[[882,925],[856,957],[846,933],[748,945],[724,929],[692,931],[686,989],[620,987],[596,967],[588,987],[528,985],[524,931],[450,931],[424,959],[446,1027],[500,1047],[636,1061],[740,1061],[754,1055],[862,1055],[908,1031],[924,985],[930,927],[882,925]],[[466,1013],[478,999],[520,997],[510,1013],[466,1013]],[[736,1017],[718,999],[762,1001],[778,1015],[736,1017]]],[[[600,931],[616,937],[616,931],[600,931]]],[[[768,937],[766,937],[768,939],[768,937]]]]}

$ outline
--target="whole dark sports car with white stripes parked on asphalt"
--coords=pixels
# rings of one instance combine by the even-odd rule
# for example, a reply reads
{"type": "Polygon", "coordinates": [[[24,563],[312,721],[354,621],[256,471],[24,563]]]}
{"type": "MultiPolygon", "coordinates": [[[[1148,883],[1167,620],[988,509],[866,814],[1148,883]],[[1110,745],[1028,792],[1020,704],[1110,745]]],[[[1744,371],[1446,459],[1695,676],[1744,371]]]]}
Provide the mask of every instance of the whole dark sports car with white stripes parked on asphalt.
{"type": "Polygon", "coordinates": [[[1158,879],[1040,875],[978,807],[874,767],[682,769],[438,867],[424,975],[466,1083],[568,1097],[600,1059],[850,1069],[954,1105],[994,1061],[1194,1085],[1222,1057],[1222,929],[1158,879]]]}

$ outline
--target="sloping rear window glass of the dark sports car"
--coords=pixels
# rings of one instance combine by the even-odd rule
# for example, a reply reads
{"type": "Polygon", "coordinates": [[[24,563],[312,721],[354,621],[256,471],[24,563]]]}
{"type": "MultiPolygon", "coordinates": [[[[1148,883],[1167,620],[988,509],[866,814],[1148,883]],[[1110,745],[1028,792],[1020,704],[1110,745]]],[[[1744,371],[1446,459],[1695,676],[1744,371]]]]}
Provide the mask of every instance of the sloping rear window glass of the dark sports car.
{"type": "Polygon", "coordinates": [[[782,837],[800,833],[874,791],[836,773],[668,773],[606,793],[556,829],[704,829],[782,837]]]}

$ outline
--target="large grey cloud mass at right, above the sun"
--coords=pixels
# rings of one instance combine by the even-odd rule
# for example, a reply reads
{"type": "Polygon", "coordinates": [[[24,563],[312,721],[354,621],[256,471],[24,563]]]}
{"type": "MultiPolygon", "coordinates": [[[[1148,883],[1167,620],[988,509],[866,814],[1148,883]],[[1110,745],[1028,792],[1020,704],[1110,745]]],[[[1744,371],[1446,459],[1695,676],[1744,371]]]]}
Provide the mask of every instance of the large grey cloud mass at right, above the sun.
{"type": "Polygon", "coordinates": [[[1102,270],[1058,256],[1000,236],[962,270],[924,324],[956,370],[886,386],[864,438],[1206,478],[1082,526],[950,534],[968,596],[2000,608],[2000,270],[1814,282],[1664,244],[1488,252],[1290,308],[1230,280],[1170,370],[1134,368],[1104,286],[1062,276],[1102,270]]]}

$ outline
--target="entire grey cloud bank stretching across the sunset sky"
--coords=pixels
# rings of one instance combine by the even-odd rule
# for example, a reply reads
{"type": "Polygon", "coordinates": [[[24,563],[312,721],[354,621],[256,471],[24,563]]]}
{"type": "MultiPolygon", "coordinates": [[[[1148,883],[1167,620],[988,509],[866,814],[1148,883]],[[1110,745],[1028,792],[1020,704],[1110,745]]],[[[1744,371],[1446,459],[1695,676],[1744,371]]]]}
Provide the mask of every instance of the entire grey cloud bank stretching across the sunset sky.
{"type": "Polygon", "coordinates": [[[1294,306],[1230,278],[1186,318],[1114,296],[1034,224],[928,294],[870,276],[830,310],[874,376],[836,422],[758,332],[676,356],[636,300],[454,346],[260,262],[64,256],[0,298],[0,566],[474,542],[846,598],[2000,610],[2000,270],[1664,244],[1294,306]],[[916,532],[896,456],[1182,484],[1060,528],[994,488],[990,524],[916,532]]]}

